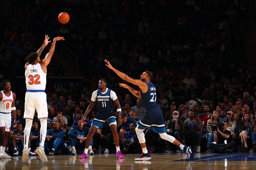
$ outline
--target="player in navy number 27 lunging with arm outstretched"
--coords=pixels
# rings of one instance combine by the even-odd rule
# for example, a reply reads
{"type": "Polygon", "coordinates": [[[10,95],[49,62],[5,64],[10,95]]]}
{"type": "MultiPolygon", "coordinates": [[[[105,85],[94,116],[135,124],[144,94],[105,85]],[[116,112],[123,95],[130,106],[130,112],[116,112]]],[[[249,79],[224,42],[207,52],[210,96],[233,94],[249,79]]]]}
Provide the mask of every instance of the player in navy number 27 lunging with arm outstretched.
{"type": "Polygon", "coordinates": [[[191,147],[184,146],[174,137],[167,135],[165,132],[163,113],[156,103],[156,87],[153,83],[150,83],[150,80],[153,77],[152,72],[143,72],[140,76],[140,80],[134,80],[126,74],[122,73],[121,71],[116,70],[114,67],[112,67],[108,60],[105,60],[105,62],[107,63],[106,66],[113,70],[120,78],[134,85],[138,85],[140,88],[139,91],[136,91],[128,85],[119,84],[121,87],[127,88],[130,92],[132,92],[134,96],[141,98],[143,106],[146,109],[145,114],[141,117],[140,121],[138,122],[137,128],[135,129],[142,148],[141,156],[135,158],[135,160],[151,159],[146,147],[146,140],[143,133],[143,130],[148,127],[151,127],[155,133],[159,133],[162,139],[168,140],[173,144],[179,146],[188,155],[189,160],[192,160],[194,158],[194,153],[191,147]]]}

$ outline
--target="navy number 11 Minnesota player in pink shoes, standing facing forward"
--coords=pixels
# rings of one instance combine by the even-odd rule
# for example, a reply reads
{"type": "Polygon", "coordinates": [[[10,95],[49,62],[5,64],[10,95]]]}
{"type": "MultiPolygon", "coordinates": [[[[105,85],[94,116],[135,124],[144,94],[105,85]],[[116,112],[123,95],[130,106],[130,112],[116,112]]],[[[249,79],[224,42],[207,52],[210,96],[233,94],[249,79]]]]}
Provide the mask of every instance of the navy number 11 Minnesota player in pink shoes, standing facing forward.
{"type": "Polygon", "coordinates": [[[91,112],[91,110],[94,106],[94,103],[96,102],[98,112],[94,116],[94,119],[92,121],[92,126],[91,126],[91,129],[90,129],[87,139],[86,139],[84,153],[79,157],[80,159],[87,158],[87,152],[88,152],[91,140],[92,140],[92,136],[94,135],[94,133],[96,132],[96,130],[99,127],[103,126],[103,123],[106,120],[108,121],[108,125],[110,126],[110,128],[113,132],[113,137],[114,137],[114,141],[116,144],[116,156],[118,156],[118,158],[124,158],[124,156],[120,152],[120,148],[119,148],[119,136],[118,136],[117,129],[116,129],[116,113],[114,111],[113,101],[115,102],[115,105],[118,108],[116,110],[118,112],[118,120],[117,120],[118,126],[120,126],[122,124],[121,106],[117,99],[116,93],[113,92],[112,90],[106,88],[106,85],[107,85],[107,80],[100,79],[99,89],[95,90],[92,93],[90,105],[87,107],[84,117],[82,118],[82,122],[84,122],[84,119],[91,112]]]}

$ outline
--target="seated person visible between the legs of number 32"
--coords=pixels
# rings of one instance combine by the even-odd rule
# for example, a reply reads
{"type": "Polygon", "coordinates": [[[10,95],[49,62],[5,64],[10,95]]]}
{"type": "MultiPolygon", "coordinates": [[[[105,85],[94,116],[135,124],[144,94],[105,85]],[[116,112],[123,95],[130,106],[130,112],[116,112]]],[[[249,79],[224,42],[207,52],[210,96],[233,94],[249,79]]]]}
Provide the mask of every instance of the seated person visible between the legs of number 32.
{"type": "Polygon", "coordinates": [[[30,130],[30,145],[31,149],[34,150],[39,147],[40,128],[38,128],[38,120],[33,120],[32,128],[30,130]]]}

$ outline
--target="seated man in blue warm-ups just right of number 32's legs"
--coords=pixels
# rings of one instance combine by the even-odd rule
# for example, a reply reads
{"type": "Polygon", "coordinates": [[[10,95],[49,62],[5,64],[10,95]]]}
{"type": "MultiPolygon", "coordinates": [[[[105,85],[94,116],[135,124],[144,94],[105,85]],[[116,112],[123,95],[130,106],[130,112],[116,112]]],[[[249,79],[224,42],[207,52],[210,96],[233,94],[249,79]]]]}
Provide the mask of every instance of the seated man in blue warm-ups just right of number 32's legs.
{"type": "Polygon", "coordinates": [[[60,122],[59,121],[53,121],[52,122],[53,128],[47,130],[46,132],[46,141],[44,144],[45,148],[51,149],[49,155],[54,155],[54,151],[59,149],[64,149],[64,130],[60,128],[60,122]]]}

